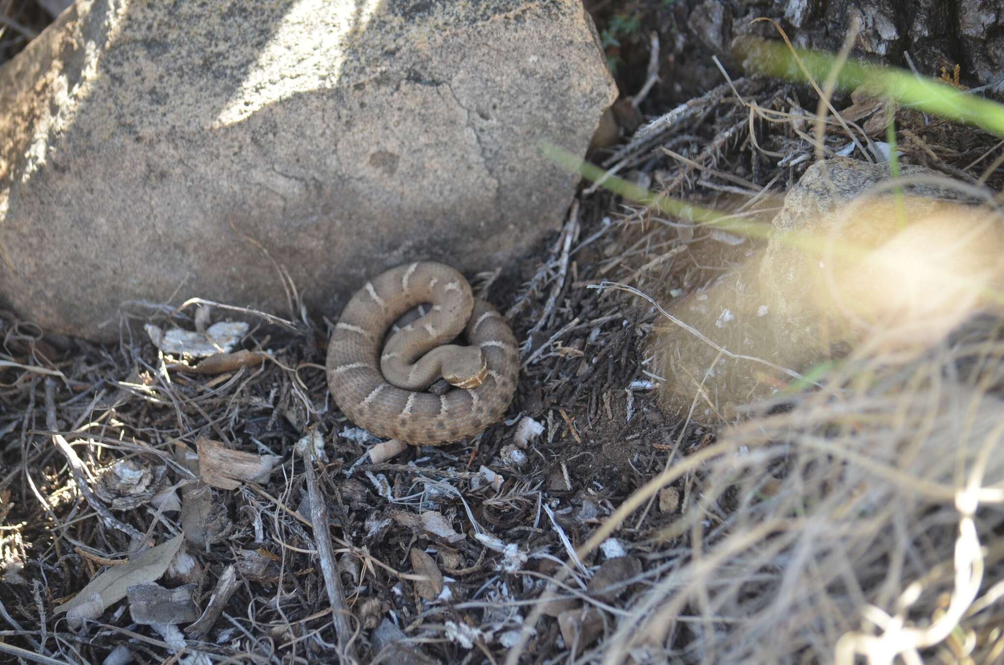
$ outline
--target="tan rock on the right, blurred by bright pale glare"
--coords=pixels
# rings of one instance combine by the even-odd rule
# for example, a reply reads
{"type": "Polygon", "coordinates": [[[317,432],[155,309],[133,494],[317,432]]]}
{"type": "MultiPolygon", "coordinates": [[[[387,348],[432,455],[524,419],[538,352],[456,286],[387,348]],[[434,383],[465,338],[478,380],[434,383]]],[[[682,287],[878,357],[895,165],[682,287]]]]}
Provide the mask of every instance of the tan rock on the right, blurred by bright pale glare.
{"type": "Polygon", "coordinates": [[[894,199],[888,163],[834,158],[806,169],[760,265],[764,323],[779,339],[777,355],[758,354],[798,370],[828,358],[822,341],[852,344],[868,330],[930,343],[1000,281],[1004,222],[935,171],[900,173],[932,182],[908,182],[894,199]]]}

